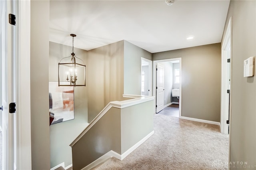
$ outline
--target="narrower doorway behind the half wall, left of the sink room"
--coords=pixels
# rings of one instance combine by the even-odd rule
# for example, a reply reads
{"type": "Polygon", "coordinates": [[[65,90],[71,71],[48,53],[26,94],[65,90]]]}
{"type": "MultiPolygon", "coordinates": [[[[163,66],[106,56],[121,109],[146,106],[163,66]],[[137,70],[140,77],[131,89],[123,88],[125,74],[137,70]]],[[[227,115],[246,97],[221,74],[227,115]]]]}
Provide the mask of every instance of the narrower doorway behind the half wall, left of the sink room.
{"type": "Polygon", "coordinates": [[[152,61],[141,58],[141,86],[140,94],[152,96],[152,61]]]}

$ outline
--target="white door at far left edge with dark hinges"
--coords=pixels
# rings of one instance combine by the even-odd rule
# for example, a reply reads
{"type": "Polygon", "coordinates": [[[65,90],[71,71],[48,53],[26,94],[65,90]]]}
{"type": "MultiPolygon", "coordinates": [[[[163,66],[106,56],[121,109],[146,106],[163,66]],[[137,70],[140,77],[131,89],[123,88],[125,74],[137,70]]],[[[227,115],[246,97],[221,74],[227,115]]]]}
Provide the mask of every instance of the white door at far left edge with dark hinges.
{"type": "Polygon", "coordinates": [[[16,28],[9,24],[9,14],[14,14],[14,1],[0,1],[0,118],[2,129],[2,167],[1,169],[15,169],[15,116],[9,113],[9,104],[15,102],[15,66],[16,63],[16,28]]]}

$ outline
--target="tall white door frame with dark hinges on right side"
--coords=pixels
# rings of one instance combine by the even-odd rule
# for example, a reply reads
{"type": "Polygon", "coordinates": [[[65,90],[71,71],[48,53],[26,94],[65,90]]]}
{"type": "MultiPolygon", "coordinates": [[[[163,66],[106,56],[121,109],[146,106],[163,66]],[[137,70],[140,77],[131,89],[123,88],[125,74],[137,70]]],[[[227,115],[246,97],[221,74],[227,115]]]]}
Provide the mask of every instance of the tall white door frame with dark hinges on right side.
{"type": "Polygon", "coordinates": [[[220,114],[220,132],[224,134],[228,134],[228,124],[226,124],[226,120],[230,120],[231,118],[231,96],[232,96],[232,17],[230,17],[226,34],[224,36],[224,40],[221,48],[221,114],[220,114]],[[230,54],[227,50],[230,49],[230,54]],[[228,55],[230,55],[230,101],[229,94],[227,94],[228,87],[228,55]],[[228,109],[230,115],[228,117],[228,109]]]}

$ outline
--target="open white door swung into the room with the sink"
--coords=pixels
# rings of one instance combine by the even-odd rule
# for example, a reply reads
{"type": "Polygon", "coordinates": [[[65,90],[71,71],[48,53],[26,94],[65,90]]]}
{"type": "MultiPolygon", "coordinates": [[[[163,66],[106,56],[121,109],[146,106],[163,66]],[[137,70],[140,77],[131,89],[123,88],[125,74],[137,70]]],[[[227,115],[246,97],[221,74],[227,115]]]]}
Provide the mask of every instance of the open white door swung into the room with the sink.
{"type": "Polygon", "coordinates": [[[164,109],[164,66],[156,65],[156,113],[164,109]]]}

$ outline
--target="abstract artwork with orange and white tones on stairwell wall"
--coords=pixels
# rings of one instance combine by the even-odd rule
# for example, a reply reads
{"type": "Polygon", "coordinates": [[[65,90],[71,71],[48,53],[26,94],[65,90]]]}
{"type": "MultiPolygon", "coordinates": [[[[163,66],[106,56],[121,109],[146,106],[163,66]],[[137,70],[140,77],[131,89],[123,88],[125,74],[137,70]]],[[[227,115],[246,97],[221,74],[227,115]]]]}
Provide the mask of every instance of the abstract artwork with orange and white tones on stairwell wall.
{"type": "Polygon", "coordinates": [[[74,119],[74,87],[49,82],[50,125],[74,119]]]}

